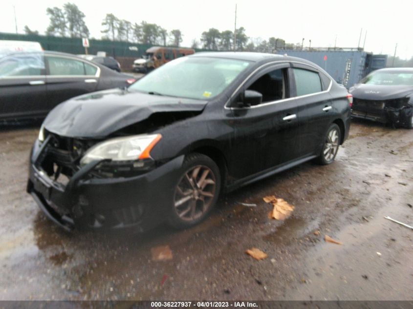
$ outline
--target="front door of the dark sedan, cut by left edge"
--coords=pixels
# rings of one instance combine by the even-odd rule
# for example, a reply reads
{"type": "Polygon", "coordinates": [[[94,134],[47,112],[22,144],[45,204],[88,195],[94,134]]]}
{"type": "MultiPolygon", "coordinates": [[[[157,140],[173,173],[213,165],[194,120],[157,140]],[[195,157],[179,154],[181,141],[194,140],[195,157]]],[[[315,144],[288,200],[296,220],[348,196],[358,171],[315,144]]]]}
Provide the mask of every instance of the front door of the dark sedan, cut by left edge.
{"type": "Polygon", "coordinates": [[[0,118],[41,117],[47,113],[42,53],[19,53],[0,60],[0,118]]]}

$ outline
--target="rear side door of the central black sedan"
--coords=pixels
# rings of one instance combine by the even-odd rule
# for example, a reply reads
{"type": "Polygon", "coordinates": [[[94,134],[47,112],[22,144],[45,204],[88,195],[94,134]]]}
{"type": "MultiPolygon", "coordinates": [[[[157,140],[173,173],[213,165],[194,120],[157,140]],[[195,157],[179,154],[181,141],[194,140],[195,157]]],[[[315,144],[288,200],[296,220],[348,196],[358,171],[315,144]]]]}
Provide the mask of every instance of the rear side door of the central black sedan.
{"type": "Polygon", "coordinates": [[[293,91],[301,127],[300,156],[306,157],[316,154],[332,122],[331,95],[329,83],[321,79],[315,67],[301,63],[292,63],[292,66],[293,91]]]}

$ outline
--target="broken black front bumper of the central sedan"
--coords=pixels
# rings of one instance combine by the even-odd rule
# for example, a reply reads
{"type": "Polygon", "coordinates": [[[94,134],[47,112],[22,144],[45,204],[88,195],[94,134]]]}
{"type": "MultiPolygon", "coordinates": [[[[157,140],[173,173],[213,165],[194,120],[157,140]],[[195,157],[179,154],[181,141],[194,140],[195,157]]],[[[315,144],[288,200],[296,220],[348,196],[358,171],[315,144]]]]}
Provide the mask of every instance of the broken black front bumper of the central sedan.
{"type": "Polygon", "coordinates": [[[90,172],[101,162],[80,168],[66,184],[50,178],[42,169],[46,141],[35,142],[31,153],[27,192],[46,216],[66,230],[73,228],[144,231],[166,219],[173,199],[174,181],[184,156],[138,176],[93,178],[90,172]]]}

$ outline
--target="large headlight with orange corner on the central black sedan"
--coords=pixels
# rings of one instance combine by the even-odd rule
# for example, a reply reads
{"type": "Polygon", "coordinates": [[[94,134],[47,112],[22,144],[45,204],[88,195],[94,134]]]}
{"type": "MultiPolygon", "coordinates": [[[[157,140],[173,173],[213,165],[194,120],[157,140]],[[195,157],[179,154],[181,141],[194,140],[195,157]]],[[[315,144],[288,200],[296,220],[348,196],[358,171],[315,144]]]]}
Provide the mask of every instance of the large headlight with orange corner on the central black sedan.
{"type": "Polygon", "coordinates": [[[80,160],[86,165],[94,160],[131,161],[150,158],[153,146],[162,138],[160,134],[119,137],[91,147],[80,160]]]}

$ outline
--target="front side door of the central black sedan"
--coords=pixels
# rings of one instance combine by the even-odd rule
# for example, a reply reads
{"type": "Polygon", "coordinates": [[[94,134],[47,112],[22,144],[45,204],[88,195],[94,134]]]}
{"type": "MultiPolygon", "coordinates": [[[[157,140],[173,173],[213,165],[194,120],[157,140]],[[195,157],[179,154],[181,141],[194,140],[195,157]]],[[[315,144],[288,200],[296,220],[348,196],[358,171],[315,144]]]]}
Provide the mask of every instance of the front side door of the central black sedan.
{"type": "Polygon", "coordinates": [[[228,165],[236,178],[259,173],[297,156],[299,127],[297,105],[290,92],[289,66],[281,63],[267,67],[242,87],[241,92],[246,89],[260,92],[261,104],[250,107],[232,104],[235,138],[228,165]]]}

